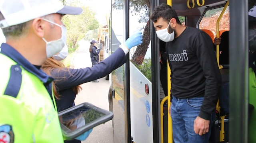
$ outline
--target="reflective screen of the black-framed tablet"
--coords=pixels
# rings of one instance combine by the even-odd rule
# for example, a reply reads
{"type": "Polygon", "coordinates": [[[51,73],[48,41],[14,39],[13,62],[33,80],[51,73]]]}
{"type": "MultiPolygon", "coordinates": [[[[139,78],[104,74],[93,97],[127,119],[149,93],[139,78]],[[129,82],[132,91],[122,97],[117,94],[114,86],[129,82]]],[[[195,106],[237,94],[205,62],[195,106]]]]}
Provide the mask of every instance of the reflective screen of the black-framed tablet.
{"type": "Polygon", "coordinates": [[[95,121],[104,116],[103,113],[92,110],[86,106],[81,106],[71,112],[59,116],[60,123],[67,127],[68,130],[75,130],[84,125],[95,121]]]}

